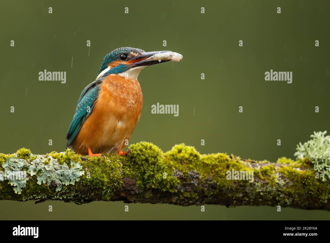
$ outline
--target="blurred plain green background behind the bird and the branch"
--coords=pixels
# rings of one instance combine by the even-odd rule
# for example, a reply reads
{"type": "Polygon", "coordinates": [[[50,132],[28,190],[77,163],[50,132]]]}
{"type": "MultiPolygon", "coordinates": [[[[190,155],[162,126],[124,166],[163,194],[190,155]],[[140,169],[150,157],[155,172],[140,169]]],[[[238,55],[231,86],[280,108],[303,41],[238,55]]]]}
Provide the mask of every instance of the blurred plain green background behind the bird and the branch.
{"type": "MultiPolygon", "coordinates": [[[[171,50],[184,57],[180,63],[151,66],[139,75],[144,106],[130,143],[149,141],[167,151],[184,142],[201,153],[271,161],[293,158],[298,142],[309,140],[314,131],[329,130],[329,12],[330,1],[2,0],[0,151],[13,153],[23,146],[36,154],[63,151],[82,89],[94,81],[107,53],[129,46],[171,50]],[[129,14],[124,14],[125,7],[129,14]],[[38,73],[44,69],[66,71],[66,84],[39,81],[38,73]],[[292,84],[265,81],[264,73],[270,69],[292,71],[292,84]],[[179,116],[151,114],[151,105],[157,102],[179,104],[179,116]]],[[[277,212],[275,207],[206,205],[202,213],[197,206],[130,204],[129,212],[124,212],[125,205],[0,201],[0,215],[1,219],[330,219],[330,212],[291,208],[277,212]],[[48,212],[49,205],[53,212],[48,212]]]]}

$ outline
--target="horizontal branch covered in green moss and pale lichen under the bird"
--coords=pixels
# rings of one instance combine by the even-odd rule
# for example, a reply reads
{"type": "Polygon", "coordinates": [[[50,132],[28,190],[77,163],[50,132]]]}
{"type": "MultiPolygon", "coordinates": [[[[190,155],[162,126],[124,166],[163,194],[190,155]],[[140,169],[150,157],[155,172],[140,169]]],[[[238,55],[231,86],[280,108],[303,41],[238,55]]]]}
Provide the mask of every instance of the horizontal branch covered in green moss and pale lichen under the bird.
{"type": "Polygon", "coordinates": [[[201,155],[184,144],[163,153],[149,142],[132,144],[130,150],[127,156],[105,154],[106,159],[83,157],[70,149],[33,155],[22,148],[14,154],[0,154],[0,177],[8,171],[26,174],[25,181],[0,182],[0,199],[330,210],[329,180],[318,179],[308,158],[294,161],[283,157],[271,163],[223,153],[201,155]],[[240,178],[252,172],[253,182],[240,178]]]}

